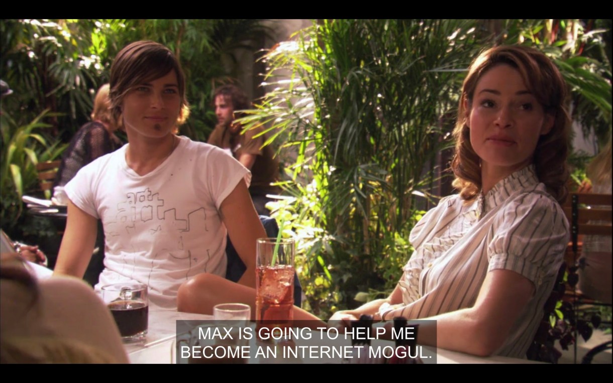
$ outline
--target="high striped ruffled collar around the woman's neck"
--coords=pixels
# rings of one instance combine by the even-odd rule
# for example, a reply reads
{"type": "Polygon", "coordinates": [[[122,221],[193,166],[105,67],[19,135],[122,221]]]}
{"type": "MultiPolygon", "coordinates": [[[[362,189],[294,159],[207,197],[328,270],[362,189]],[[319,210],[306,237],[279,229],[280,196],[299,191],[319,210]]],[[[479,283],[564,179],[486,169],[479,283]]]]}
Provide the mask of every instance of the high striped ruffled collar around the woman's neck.
{"type": "Polygon", "coordinates": [[[504,203],[515,192],[523,190],[527,186],[538,184],[538,182],[535,165],[528,165],[498,181],[487,194],[484,195],[481,192],[470,210],[474,211],[478,218],[481,218],[492,208],[504,203]]]}

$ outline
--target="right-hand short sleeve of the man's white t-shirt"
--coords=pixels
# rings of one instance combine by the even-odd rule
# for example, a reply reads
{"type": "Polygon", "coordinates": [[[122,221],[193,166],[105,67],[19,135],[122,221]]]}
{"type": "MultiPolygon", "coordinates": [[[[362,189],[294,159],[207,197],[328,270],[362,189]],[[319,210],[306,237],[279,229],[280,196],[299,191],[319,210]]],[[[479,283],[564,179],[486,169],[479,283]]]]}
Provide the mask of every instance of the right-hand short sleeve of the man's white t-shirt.
{"type": "Polygon", "coordinates": [[[251,183],[251,172],[224,150],[211,148],[206,164],[210,176],[205,181],[218,210],[240,180],[245,180],[247,187],[251,183]]]}

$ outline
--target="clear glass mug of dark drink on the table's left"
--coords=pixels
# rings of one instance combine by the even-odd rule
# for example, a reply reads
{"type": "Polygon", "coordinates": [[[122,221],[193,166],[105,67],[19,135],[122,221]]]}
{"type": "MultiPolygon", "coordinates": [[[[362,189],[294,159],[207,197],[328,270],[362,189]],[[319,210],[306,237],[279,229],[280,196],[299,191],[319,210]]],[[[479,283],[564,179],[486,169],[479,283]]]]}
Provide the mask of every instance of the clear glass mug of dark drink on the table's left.
{"type": "Polygon", "coordinates": [[[113,314],[121,339],[133,341],[147,335],[149,322],[147,285],[116,283],[102,286],[102,300],[113,314]]]}

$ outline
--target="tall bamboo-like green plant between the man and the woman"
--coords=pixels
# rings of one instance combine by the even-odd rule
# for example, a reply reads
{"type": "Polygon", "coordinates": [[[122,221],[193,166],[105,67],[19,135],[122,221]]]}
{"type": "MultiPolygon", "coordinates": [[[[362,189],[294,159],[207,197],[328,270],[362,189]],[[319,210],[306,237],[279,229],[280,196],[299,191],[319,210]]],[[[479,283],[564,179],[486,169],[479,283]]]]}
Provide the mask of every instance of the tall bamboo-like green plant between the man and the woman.
{"type": "Polygon", "coordinates": [[[270,91],[243,123],[267,124],[268,143],[292,153],[297,191],[318,190],[310,209],[321,232],[309,265],[342,306],[355,305],[358,292],[390,289],[402,273],[414,212],[431,199],[424,169],[449,145],[441,116],[457,104],[459,72],[476,49],[472,28],[324,20],[265,56],[270,91]]]}

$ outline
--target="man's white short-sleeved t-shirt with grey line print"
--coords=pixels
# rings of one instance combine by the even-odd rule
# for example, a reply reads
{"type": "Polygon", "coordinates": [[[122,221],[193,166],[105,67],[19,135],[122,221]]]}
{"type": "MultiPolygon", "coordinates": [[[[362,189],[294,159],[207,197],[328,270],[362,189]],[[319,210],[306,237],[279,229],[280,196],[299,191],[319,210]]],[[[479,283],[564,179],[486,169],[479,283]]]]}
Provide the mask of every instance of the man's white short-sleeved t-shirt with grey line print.
{"type": "Polygon", "coordinates": [[[80,209],[102,219],[105,269],[96,288],[137,281],[151,305],[177,307],[194,275],[226,273],[221,203],[251,173],[223,150],[179,137],[157,169],[140,176],[126,164],[128,145],[83,167],[66,185],[80,209]]]}

